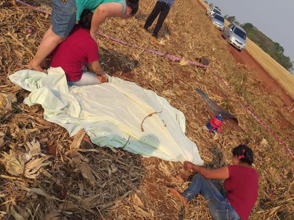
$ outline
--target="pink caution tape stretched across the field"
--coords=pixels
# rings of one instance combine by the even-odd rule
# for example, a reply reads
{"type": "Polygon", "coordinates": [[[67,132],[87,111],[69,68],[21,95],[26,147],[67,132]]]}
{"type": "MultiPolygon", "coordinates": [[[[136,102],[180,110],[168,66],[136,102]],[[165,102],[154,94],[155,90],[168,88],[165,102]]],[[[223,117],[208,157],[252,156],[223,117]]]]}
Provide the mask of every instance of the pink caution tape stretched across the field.
{"type": "MultiPolygon", "coordinates": [[[[45,11],[45,10],[43,10],[43,9],[40,9],[40,8],[37,8],[37,7],[34,7],[34,6],[31,6],[31,5],[29,5],[29,4],[27,4],[27,3],[25,3],[24,1],[22,1],[22,0],[15,0],[16,2],[19,2],[19,3],[21,3],[21,4],[23,4],[23,5],[25,5],[25,6],[27,6],[27,7],[30,7],[30,8],[32,8],[32,9],[34,9],[35,11],[38,11],[38,12],[41,12],[41,13],[43,13],[43,14],[49,14],[49,15],[51,15],[51,13],[50,12],[48,12],[48,11],[45,11]]],[[[181,61],[182,59],[181,58],[179,58],[179,57],[176,57],[176,56],[173,56],[173,55],[170,55],[170,54],[166,54],[166,53],[163,53],[163,52],[160,52],[160,51],[156,51],[156,50],[152,50],[152,49],[148,49],[148,48],[144,48],[144,47],[141,47],[141,46],[137,46],[137,45],[133,45],[133,44],[129,44],[129,43],[126,43],[126,42],[124,42],[124,41],[122,41],[122,40],[119,40],[119,39],[116,39],[116,38],[114,38],[114,37],[111,37],[111,36],[108,36],[108,35],[105,35],[105,34],[102,34],[102,33],[97,33],[98,35],[100,35],[100,36],[102,36],[102,37],[105,37],[105,38],[108,38],[108,39],[110,39],[110,40],[112,40],[112,41],[115,41],[115,42],[118,42],[118,43],[120,43],[120,44],[124,44],[124,45],[126,45],[126,46],[130,46],[130,47],[133,47],[133,48],[137,48],[137,49],[143,49],[143,50],[145,50],[145,51],[148,51],[148,52],[150,52],[150,53],[154,53],[154,54],[157,54],[157,55],[159,55],[159,56],[162,56],[162,57],[166,57],[166,58],[168,58],[168,59],[170,59],[170,60],[172,60],[172,61],[177,61],[177,62],[179,62],[179,61],[181,61]]],[[[194,61],[190,61],[190,60],[185,60],[187,63],[189,63],[190,65],[192,65],[192,66],[197,66],[197,67],[200,67],[200,68],[207,68],[208,66],[206,66],[206,65],[203,65],[203,64],[199,64],[199,63],[196,63],[196,62],[194,62],[194,61]]],[[[234,93],[234,91],[229,87],[229,85],[228,85],[228,83],[221,77],[221,75],[216,71],[216,70],[214,70],[214,69],[211,69],[211,71],[219,78],[219,80],[226,86],[226,88],[228,88],[232,93],[234,93]]],[[[245,104],[245,102],[242,100],[242,99],[240,99],[239,97],[238,97],[238,102],[246,109],[246,110],[248,110],[249,112],[250,112],[250,114],[261,124],[261,125],[263,125],[276,139],[278,139],[279,140],[279,142],[285,147],[285,149],[286,149],[286,151],[290,154],[290,156],[291,156],[291,158],[292,158],[292,160],[294,160],[294,155],[293,155],[293,153],[291,152],[291,150],[290,150],[290,148],[288,147],[288,145],[285,143],[285,141],[281,138],[281,137],[279,137],[274,131],[272,131],[271,129],[270,129],[270,127],[262,120],[262,119],[260,119],[255,113],[254,113],[254,111],[253,110],[251,110],[246,104],[245,104]]]]}

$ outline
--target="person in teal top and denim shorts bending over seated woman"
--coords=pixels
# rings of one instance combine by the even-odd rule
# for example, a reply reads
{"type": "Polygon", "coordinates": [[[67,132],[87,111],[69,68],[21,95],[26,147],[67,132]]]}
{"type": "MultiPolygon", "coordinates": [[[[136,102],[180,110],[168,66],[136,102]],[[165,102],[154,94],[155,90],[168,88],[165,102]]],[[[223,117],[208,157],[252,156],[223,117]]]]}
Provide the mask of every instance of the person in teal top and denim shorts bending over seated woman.
{"type": "Polygon", "coordinates": [[[130,18],[138,11],[139,0],[51,0],[51,24],[46,31],[29,69],[43,71],[41,64],[54,48],[70,34],[84,9],[94,13],[90,34],[96,40],[99,25],[110,17],[130,18]]]}

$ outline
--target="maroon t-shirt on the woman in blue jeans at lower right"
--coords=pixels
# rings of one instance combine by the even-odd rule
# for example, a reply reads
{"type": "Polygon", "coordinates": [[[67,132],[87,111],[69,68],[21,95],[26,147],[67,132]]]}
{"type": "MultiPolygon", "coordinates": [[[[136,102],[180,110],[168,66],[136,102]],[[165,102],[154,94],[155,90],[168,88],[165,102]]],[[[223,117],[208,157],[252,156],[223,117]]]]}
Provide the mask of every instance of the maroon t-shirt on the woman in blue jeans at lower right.
{"type": "Polygon", "coordinates": [[[223,186],[226,197],[242,220],[247,220],[257,199],[258,174],[250,167],[229,165],[229,178],[223,186]]]}

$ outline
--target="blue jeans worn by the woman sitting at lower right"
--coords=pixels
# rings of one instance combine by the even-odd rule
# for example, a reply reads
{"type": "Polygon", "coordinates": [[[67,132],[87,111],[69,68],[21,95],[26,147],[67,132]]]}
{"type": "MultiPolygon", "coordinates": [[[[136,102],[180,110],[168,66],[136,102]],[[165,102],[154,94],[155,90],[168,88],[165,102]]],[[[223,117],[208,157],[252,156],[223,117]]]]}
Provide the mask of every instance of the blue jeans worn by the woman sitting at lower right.
{"type": "Polygon", "coordinates": [[[209,212],[214,220],[241,220],[228,199],[225,198],[224,191],[217,180],[208,180],[200,174],[193,176],[192,182],[182,196],[190,201],[198,193],[208,200],[209,212]]]}

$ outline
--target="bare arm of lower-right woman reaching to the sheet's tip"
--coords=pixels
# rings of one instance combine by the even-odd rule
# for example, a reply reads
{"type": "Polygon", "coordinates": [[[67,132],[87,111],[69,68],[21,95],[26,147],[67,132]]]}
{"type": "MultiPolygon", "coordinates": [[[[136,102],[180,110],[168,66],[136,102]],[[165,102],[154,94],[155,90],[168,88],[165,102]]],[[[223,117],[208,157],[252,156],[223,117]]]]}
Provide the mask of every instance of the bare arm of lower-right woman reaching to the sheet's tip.
{"type": "Polygon", "coordinates": [[[221,167],[219,169],[209,170],[204,167],[197,166],[189,161],[185,161],[186,168],[194,170],[196,173],[204,176],[207,179],[227,179],[229,178],[228,166],[221,167]]]}

